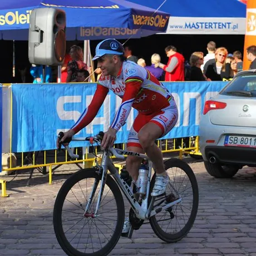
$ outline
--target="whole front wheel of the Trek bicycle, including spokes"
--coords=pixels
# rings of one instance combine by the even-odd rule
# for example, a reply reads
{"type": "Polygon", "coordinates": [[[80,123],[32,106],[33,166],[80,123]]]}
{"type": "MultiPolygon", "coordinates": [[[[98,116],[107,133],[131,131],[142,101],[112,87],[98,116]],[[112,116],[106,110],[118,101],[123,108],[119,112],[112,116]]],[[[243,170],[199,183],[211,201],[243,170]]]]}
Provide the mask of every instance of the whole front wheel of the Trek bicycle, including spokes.
{"type": "Polygon", "coordinates": [[[124,200],[109,175],[95,215],[101,176],[95,168],[83,169],[70,176],[58,192],[53,225],[58,243],[67,255],[107,255],[120,238],[125,216],[124,200]],[[89,198],[91,205],[85,211],[89,198]]]}

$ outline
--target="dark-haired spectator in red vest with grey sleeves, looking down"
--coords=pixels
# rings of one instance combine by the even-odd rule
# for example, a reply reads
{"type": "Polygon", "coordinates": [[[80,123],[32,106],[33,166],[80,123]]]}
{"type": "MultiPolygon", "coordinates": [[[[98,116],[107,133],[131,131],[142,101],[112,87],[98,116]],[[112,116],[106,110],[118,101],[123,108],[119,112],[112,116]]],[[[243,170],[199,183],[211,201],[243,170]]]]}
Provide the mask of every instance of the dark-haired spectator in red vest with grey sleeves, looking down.
{"type": "Polygon", "coordinates": [[[177,52],[176,47],[165,47],[165,53],[169,57],[167,65],[159,63],[159,67],[165,71],[165,81],[184,81],[184,57],[177,52]]]}

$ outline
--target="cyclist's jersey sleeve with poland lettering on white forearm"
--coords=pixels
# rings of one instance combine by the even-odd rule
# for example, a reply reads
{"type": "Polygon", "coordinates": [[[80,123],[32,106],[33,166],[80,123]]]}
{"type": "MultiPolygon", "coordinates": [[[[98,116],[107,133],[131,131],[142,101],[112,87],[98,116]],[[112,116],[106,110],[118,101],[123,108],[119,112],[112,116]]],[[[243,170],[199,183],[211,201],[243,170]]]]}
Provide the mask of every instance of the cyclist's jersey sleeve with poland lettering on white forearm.
{"type": "Polygon", "coordinates": [[[127,117],[130,114],[132,103],[136,96],[140,93],[141,84],[144,81],[142,76],[137,75],[136,72],[130,70],[126,72],[125,76],[125,94],[122,97],[122,103],[116,112],[114,121],[111,124],[111,128],[116,131],[125,124],[127,117]],[[130,73],[129,73],[130,72],[130,73]]]}

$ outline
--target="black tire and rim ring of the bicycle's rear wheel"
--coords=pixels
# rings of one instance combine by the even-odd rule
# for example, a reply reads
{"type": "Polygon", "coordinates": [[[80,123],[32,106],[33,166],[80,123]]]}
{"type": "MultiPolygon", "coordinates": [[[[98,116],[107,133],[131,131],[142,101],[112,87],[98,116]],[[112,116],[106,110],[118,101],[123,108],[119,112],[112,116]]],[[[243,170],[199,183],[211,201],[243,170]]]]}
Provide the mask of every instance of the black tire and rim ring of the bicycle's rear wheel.
{"type": "MultiPolygon", "coordinates": [[[[190,214],[188,222],[185,224],[184,228],[181,229],[178,233],[170,234],[170,233],[164,232],[164,230],[161,229],[160,225],[157,223],[157,220],[156,220],[157,214],[155,216],[152,216],[149,219],[151,228],[154,230],[157,237],[159,237],[161,240],[164,240],[167,243],[174,243],[174,242],[178,242],[179,240],[184,238],[185,235],[188,234],[189,230],[193,227],[193,224],[194,224],[194,221],[196,218],[196,214],[198,211],[198,204],[199,204],[198,183],[196,181],[195,174],[194,174],[193,170],[184,161],[182,161],[180,159],[169,159],[169,160],[165,161],[164,165],[165,165],[165,170],[168,170],[170,168],[180,168],[181,170],[183,170],[186,173],[186,175],[188,175],[190,183],[191,183],[191,188],[193,190],[193,206],[191,209],[191,214],[190,214]]],[[[153,175],[153,177],[151,179],[150,194],[151,194],[152,188],[154,186],[154,183],[155,183],[155,174],[153,175]]]]}

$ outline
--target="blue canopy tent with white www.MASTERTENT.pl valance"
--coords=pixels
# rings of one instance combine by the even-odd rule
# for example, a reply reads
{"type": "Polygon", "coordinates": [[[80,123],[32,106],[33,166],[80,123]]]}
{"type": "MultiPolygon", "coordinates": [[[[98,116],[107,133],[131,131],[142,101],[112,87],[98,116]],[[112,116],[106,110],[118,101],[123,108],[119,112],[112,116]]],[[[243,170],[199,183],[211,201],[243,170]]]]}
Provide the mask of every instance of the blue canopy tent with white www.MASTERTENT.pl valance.
{"type": "Polygon", "coordinates": [[[166,33],[244,35],[246,4],[237,0],[129,0],[170,13],[166,33]]]}

